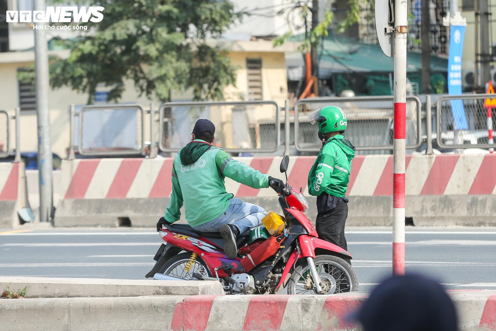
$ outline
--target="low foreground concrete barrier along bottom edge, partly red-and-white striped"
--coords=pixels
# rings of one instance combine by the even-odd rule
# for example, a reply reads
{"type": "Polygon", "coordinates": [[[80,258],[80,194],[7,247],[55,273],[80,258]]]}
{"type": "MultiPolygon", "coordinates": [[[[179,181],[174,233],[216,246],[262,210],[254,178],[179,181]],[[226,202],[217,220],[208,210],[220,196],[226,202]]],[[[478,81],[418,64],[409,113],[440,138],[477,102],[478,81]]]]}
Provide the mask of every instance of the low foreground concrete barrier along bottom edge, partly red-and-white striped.
{"type": "MultiPolygon", "coordinates": [[[[0,300],[2,330],[360,330],[345,317],[367,293],[0,300]]],[[[496,291],[450,291],[460,331],[495,330],[496,291]]]]}

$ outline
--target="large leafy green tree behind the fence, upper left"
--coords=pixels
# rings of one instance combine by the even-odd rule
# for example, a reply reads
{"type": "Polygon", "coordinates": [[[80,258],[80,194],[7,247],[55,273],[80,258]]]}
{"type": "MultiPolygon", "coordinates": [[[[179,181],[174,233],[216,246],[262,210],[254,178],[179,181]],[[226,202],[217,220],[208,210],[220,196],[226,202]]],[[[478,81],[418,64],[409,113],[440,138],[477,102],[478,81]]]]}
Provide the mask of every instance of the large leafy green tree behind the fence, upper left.
{"type": "MultiPolygon", "coordinates": [[[[89,2],[89,3],[87,3],[89,2]]],[[[104,18],[86,25],[87,32],[67,42],[67,59],[51,57],[50,85],[69,86],[88,93],[111,87],[108,101],[118,101],[124,79],[131,79],[139,95],[169,101],[171,91],[192,88],[194,99],[222,99],[224,87],[235,83],[236,67],[206,43],[241,20],[229,0],[99,0],[104,18]]],[[[27,79],[24,75],[24,80],[27,79]]]]}

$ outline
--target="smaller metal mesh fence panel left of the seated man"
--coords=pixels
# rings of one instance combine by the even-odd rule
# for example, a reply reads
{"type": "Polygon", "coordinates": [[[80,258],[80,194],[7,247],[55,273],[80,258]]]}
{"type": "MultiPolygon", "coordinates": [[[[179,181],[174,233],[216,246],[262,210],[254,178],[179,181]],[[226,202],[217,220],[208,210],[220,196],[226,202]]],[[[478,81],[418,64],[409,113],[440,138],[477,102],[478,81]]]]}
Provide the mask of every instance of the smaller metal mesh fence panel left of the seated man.
{"type": "Polygon", "coordinates": [[[81,155],[138,154],[144,150],[140,105],[85,106],[79,111],[81,155]]]}

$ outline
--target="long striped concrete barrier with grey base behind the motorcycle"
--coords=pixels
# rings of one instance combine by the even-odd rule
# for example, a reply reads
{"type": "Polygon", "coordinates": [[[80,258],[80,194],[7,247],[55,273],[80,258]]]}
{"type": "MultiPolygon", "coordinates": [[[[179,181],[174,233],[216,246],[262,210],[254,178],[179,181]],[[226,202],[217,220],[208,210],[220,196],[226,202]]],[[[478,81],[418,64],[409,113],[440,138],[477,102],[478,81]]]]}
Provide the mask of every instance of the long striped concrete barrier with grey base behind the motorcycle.
{"type": "MultiPolygon", "coordinates": [[[[282,178],[281,157],[240,157],[254,169],[282,178]]],[[[307,177],[315,157],[291,157],[289,184],[303,188],[307,215],[315,198],[307,177]]],[[[154,226],[172,191],[172,159],[63,160],[56,226],[154,226]]],[[[416,225],[496,225],[496,155],[407,155],[406,217],[416,225]]],[[[392,224],[392,155],[358,155],[347,197],[349,225],[392,224]]],[[[226,189],[266,210],[280,212],[271,189],[255,190],[226,178],[226,189]]],[[[184,215],[184,213],[183,213],[184,215]]],[[[185,221],[184,219],[182,221],[185,221]]]]}

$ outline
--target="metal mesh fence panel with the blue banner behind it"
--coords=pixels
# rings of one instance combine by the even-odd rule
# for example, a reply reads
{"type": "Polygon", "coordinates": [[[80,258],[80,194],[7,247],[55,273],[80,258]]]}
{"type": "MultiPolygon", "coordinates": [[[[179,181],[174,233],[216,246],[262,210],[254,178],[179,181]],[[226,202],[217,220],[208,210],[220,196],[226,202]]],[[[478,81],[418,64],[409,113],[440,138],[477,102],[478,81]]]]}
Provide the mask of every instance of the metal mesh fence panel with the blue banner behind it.
{"type": "Polygon", "coordinates": [[[444,96],[437,101],[437,144],[442,148],[490,148],[496,122],[494,94],[444,96]],[[488,107],[484,104],[488,100],[488,107]]]}

